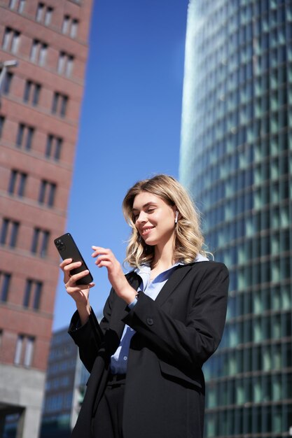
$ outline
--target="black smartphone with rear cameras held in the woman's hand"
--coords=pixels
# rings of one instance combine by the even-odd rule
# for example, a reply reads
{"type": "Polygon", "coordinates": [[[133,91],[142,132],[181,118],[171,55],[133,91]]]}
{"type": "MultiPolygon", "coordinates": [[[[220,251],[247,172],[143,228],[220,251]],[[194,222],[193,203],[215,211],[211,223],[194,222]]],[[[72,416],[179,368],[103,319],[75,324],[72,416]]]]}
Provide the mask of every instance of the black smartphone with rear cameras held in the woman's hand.
{"type": "MultiPolygon", "coordinates": [[[[81,252],[78,250],[78,246],[76,245],[73,237],[70,233],[63,234],[57,239],[54,239],[55,246],[59,251],[59,254],[62,260],[71,258],[73,262],[82,262],[81,266],[70,271],[71,275],[78,274],[79,272],[85,271],[88,269],[87,264],[85,263],[81,252]]],[[[88,269],[89,271],[89,269],[88,269]]],[[[88,284],[93,281],[92,275],[89,273],[85,277],[76,281],[76,284],[88,284]]]]}

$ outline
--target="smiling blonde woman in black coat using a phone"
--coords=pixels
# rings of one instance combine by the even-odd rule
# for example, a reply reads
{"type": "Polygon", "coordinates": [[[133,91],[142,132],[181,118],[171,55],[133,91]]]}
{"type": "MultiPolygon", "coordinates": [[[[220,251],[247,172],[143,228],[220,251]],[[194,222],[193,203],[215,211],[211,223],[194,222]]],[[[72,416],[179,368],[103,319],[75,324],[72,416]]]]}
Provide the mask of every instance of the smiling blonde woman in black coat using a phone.
{"type": "Polygon", "coordinates": [[[67,292],[76,302],[69,334],[90,372],[72,437],[202,437],[202,365],[218,347],[225,324],[228,270],[202,250],[197,212],[171,176],[139,181],[123,201],[132,228],[123,274],[111,250],[93,246],[97,267],[112,285],[99,324],[88,271],[64,260],[67,292]]]}

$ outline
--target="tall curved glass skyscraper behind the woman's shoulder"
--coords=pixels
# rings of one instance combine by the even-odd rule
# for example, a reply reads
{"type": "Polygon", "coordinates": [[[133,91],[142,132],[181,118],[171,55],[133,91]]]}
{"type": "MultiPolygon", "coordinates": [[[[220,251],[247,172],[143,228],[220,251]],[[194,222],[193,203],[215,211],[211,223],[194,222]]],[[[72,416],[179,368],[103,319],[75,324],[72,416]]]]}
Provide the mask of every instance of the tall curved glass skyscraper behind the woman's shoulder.
{"type": "Polygon", "coordinates": [[[230,270],[225,334],[204,367],[208,438],[292,426],[291,175],[292,2],[190,1],[180,180],[230,270]]]}

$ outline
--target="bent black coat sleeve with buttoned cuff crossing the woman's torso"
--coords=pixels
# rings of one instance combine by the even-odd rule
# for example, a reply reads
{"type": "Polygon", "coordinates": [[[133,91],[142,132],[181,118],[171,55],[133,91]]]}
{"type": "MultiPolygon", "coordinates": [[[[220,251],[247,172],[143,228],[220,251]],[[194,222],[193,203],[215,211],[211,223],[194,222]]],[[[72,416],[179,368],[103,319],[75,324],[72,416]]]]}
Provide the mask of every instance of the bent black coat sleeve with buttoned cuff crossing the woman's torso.
{"type": "MultiPolygon", "coordinates": [[[[172,318],[143,293],[124,321],[147,339],[158,357],[185,369],[202,367],[221,341],[228,278],[224,264],[204,263],[204,268],[199,269],[193,282],[186,286],[190,288],[186,322],[172,318]]],[[[185,284],[181,282],[178,294],[185,284]]]]}

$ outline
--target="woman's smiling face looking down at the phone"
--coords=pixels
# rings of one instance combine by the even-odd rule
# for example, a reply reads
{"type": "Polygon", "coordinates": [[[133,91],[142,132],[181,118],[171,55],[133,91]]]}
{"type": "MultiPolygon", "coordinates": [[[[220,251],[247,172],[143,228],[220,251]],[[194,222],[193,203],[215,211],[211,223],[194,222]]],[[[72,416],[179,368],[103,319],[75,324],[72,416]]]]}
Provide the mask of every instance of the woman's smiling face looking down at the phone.
{"type": "Polygon", "coordinates": [[[169,206],[149,192],[141,192],[134,198],[134,222],[147,245],[163,245],[173,239],[175,211],[176,206],[169,206]]]}

